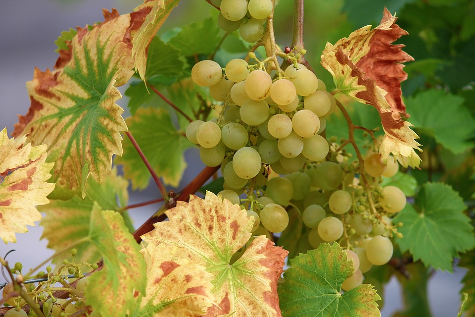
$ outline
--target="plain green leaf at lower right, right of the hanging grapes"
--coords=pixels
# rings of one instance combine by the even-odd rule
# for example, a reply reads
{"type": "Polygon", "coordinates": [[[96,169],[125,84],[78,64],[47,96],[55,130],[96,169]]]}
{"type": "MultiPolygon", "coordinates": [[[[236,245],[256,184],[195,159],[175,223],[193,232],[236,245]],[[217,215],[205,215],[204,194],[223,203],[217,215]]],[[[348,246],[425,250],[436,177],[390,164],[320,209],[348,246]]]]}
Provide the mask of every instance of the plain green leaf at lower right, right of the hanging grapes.
{"type": "Polygon", "coordinates": [[[452,259],[475,247],[466,206],[457,192],[443,183],[426,183],[414,206],[407,204],[393,219],[404,225],[396,239],[402,252],[409,250],[414,261],[422,260],[436,269],[452,271],[452,259]]]}

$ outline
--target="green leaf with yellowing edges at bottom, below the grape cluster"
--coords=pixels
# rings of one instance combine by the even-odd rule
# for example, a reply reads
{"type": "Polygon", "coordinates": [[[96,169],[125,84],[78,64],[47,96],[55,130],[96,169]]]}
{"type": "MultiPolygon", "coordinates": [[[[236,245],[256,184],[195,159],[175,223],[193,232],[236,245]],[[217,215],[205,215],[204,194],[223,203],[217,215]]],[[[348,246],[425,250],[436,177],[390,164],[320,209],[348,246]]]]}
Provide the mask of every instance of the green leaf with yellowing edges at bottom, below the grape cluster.
{"type": "Polygon", "coordinates": [[[343,294],[341,284],[353,274],[354,266],[337,244],[321,244],[290,260],[279,286],[284,316],[380,317],[381,298],[373,285],[362,284],[343,294]]]}

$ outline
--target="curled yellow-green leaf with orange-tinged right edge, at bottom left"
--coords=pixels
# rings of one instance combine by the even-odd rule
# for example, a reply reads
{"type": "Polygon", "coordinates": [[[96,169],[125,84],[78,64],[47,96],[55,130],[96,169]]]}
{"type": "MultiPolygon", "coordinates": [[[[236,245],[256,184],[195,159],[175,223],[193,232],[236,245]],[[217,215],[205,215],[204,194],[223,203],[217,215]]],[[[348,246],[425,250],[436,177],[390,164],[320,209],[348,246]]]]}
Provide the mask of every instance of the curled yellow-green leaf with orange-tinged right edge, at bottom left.
{"type": "Polygon", "coordinates": [[[101,211],[95,204],[91,214],[89,241],[102,255],[104,265],[91,274],[86,304],[99,316],[122,317],[136,306],[138,293],[145,294],[146,264],[140,247],[116,211],[101,211]]]}

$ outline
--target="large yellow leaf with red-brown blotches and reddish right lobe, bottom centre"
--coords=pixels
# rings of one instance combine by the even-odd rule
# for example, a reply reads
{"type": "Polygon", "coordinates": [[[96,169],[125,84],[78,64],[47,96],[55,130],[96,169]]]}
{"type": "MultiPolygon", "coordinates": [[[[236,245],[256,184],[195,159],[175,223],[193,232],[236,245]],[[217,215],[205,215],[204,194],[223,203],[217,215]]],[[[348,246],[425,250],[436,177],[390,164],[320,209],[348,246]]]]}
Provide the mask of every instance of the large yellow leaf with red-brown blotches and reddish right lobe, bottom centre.
{"type": "Polygon", "coordinates": [[[211,192],[205,199],[190,196],[166,211],[170,221],[158,222],[142,239],[177,246],[175,257],[201,264],[213,275],[212,294],[218,306],[203,316],[281,316],[277,280],[287,251],[265,236],[257,237],[230,265],[231,257],[251,237],[254,220],[238,205],[211,192]]]}

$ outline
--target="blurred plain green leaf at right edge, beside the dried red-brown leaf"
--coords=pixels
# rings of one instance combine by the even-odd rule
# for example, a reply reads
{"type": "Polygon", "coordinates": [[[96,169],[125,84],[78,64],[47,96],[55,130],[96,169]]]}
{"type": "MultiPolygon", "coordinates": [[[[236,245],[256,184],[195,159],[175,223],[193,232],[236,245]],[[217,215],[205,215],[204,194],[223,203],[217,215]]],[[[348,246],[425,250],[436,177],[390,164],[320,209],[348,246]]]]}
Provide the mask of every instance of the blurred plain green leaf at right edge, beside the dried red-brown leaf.
{"type": "Polygon", "coordinates": [[[411,122],[421,133],[435,138],[455,154],[474,146],[475,119],[464,106],[464,99],[442,90],[427,90],[408,98],[411,122]],[[464,127],[454,129],[454,127],[464,127]]]}

